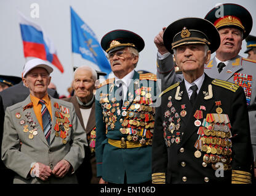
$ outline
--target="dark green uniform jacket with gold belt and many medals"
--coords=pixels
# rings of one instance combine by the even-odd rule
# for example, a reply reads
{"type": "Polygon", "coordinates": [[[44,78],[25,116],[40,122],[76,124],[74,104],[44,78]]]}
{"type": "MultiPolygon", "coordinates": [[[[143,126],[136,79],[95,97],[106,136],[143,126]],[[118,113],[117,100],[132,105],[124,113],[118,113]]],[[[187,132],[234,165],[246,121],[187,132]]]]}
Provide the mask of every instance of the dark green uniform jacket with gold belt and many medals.
{"type": "Polygon", "coordinates": [[[106,80],[97,89],[97,176],[110,183],[151,180],[156,75],[134,72],[133,80],[122,107],[114,78],[106,80]]]}

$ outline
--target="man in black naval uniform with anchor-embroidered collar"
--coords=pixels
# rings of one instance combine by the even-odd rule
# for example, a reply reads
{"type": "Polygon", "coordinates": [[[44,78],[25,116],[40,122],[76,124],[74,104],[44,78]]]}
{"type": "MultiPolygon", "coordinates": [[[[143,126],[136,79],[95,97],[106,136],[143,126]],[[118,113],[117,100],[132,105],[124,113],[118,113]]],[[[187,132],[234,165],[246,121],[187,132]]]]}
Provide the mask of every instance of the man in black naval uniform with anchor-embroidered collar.
{"type": "Polygon", "coordinates": [[[244,91],[204,73],[220,44],[217,29],[201,18],[182,18],[166,28],[163,38],[184,80],[159,96],[153,183],[251,183],[244,91]]]}

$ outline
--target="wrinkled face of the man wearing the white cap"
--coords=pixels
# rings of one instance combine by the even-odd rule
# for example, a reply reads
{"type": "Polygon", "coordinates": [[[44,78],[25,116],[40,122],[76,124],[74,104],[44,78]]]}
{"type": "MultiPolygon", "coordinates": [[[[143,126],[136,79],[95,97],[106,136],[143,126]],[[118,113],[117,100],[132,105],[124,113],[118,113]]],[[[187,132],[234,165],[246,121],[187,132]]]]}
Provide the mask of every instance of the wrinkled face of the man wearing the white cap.
{"type": "Polygon", "coordinates": [[[41,99],[47,93],[47,86],[50,84],[50,75],[46,69],[36,67],[23,78],[23,83],[30,89],[30,93],[34,97],[41,99]]]}

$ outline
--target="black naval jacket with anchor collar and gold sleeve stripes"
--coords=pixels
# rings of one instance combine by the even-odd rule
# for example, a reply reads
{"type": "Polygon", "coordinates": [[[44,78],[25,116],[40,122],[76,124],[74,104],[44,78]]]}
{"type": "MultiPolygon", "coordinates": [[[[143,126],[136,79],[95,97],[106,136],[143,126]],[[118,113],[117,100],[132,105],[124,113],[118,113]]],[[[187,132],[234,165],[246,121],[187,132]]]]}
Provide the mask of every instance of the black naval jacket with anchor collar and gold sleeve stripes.
{"type": "Polygon", "coordinates": [[[241,87],[205,75],[194,107],[184,80],[163,91],[160,99],[153,183],[231,183],[231,178],[250,183],[252,147],[241,87]]]}

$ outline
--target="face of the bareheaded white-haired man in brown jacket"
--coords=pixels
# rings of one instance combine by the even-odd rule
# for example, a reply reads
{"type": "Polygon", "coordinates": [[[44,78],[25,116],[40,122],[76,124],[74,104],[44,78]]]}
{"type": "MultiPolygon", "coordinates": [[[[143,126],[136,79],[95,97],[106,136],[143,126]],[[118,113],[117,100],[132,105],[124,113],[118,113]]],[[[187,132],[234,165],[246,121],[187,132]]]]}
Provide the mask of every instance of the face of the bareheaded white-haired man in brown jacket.
{"type": "MultiPolygon", "coordinates": [[[[79,69],[79,68],[78,68],[79,69]]],[[[90,97],[95,89],[94,79],[90,70],[79,69],[74,74],[74,94],[81,100],[90,97]]]]}

